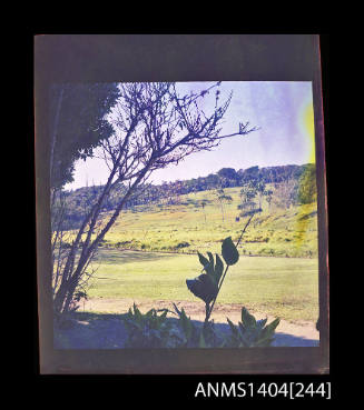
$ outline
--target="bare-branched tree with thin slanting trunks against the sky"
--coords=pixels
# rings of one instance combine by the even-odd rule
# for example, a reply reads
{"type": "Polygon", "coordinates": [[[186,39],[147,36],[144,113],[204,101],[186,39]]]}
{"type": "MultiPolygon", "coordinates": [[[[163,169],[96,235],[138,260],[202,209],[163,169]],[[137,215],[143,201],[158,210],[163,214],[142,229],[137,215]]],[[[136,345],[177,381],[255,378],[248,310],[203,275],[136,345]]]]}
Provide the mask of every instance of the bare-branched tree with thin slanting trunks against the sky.
{"type": "Polygon", "coordinates": [[[126,202],[147,186],[153,171],[177,164],[185,157],[201,150],[211,150],[233,136],[245,136],[255,130],[239,123],[237,131],[222,136],[222,119],[232,93],[218,103],[219,83],[198,93],[180,96],[175,83],[124,83],[112,114],[115,133],[99,150],[108,166],[109,177],[97,200],[85,217],[68,249],[59,286],[55,293],[55,310],[67,312],[78,284],[106,233],[119,217],[126,202]],[[199,101],[215,91],[213,112],[206,113],[199,101]],[[115,210],[102,221],[100,211],[112,190],[124,187],[115,210]],[[99,223],[99,226],[98,226],[99,223]],[[92,232],[98,227],[95,236],[92,232]]]}

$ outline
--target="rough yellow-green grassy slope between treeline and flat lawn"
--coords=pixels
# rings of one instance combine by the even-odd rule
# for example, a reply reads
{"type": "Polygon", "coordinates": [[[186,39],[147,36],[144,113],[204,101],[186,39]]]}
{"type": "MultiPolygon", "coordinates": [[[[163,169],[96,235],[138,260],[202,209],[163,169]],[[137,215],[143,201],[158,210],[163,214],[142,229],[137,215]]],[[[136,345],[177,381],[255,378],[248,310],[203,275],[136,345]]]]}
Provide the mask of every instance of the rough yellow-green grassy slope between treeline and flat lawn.
{"type": "MultiPolygon", "coordinates": [[[[233,201],[224,204],[224,221],[214,191],[181,196],[180,203],[174,206],[135,207],[120,214],[102,247],[179,253],[219,252],[222,241],[228,236],[236,241],[246,222],[246,218],[236,221],[239,190],[225,189],[233,201]],[[207,202],[205,208],[203,200],[207,202]]],[[[263,203],[263,212],[253,218],[239,250],[247,256],[316,258],[316,204],[283,210],[269,209],[263,203]]]]}

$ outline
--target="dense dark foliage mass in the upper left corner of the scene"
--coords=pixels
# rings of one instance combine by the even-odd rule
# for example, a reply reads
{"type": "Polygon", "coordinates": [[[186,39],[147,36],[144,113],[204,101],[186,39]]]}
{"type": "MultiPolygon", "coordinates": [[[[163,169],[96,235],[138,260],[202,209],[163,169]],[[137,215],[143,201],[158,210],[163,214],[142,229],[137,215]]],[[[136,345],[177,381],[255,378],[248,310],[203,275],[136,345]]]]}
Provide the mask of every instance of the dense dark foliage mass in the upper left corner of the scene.
{"type": "Polygon", "coordinates": [[[115,83],[57,84],[50,91],[51,187],[73,181],[73,166],[112,133],[105,116],[120,92],[115,83]]]}

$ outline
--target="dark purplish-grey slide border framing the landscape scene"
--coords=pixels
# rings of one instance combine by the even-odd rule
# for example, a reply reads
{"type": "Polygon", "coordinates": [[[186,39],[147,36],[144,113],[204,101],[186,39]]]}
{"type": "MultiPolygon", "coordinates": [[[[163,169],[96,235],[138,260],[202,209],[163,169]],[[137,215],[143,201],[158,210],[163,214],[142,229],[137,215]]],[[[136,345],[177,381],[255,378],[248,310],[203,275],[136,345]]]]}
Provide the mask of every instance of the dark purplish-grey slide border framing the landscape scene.
{"type": "Polygon", "coordinates": [[[328,373],[328,231],[319,37],[55,34],[35,38],[39,354],[42,374],[328,373]],[[312,81],[318,188],[317,348],[55,350],[50,276],[48,90],[53,82],[312,81]]]}

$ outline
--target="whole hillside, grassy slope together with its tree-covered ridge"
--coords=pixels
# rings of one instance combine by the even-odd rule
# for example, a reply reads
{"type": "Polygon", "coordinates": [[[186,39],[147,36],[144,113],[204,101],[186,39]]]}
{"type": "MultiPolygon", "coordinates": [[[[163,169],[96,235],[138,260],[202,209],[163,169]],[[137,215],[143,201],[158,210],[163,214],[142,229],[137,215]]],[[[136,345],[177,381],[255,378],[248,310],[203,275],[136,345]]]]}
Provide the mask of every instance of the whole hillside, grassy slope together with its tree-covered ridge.
{"type": "MultiPolygon", "coordinates": [[[[101,189],[102,186],[85,187],[65,193],[65,230],[70,233],[79,227],[101,189]]],[[[105,201],[101,226],[120,198],[122,187],[105,201]]],[[[178,253],[219,251],[224,238],[238,239],[247,219],[238,207],[243,200],[247,201],[244,207],[253,200],[263,211],[253,218],[245,233],[242,254],[315,258],[315,198],[314,164],[252,167],[237,172],[223,168],[207,177],[150,186],[129,200],[99,246],[178,253]],[[253,199],[247,197],[250,184],[253,199]],[[259,184],[264,186],[264,194],[257,191],[259,184]]]]}

